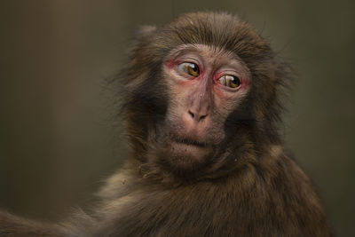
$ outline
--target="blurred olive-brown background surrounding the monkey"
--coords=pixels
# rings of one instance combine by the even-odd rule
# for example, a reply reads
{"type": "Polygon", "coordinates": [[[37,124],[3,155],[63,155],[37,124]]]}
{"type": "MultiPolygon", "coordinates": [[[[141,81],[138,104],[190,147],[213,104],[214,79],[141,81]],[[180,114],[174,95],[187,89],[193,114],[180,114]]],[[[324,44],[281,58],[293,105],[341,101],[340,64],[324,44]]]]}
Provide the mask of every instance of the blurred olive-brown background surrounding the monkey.
{"type": "Polygon", "coordinates": [[[0,207],[56,220],[127,153],[105,79],[141,25],[182,12],[237,13],[296,71],[282,136],[324,200],[337,236],[355,236],[355,2],[0,2],[0,207]]]}

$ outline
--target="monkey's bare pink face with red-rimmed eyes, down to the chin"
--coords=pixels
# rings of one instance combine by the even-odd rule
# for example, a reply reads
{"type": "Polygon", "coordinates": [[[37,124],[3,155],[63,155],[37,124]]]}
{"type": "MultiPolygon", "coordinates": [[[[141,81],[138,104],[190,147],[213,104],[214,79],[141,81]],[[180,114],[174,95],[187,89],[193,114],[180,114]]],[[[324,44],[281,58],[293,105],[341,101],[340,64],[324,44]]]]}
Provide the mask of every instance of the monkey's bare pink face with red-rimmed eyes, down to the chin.
{"type": "MultiPolygon", "coordinates": [[[[170,52],[162,66],[170,96],[163,146],[174,166],[192,168],[213,159],[225,142],[225,122],[249,91],[251,76],[229,51],[187,44],[170,52]]],[[[169,162],[169,161],[168,161],[169,162]]]]}

